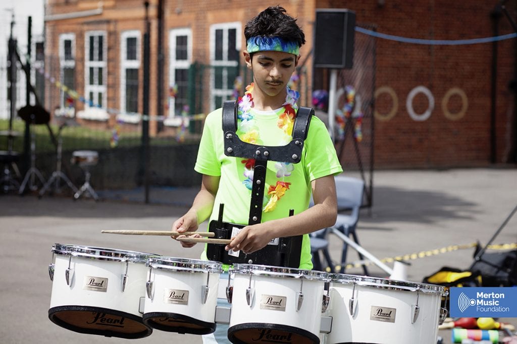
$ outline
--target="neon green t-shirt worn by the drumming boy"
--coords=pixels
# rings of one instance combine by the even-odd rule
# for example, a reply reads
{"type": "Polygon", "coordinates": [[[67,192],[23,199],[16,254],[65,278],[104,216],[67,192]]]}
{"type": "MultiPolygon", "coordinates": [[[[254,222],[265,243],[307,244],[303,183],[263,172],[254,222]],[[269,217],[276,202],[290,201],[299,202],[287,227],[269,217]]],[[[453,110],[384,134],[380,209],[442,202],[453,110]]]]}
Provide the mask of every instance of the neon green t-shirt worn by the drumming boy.
{"type": "MultiPolygon", "coordinates": [[[[283,130],[277,125],[280,114],[284,112],[283,107],[275,111],[257,111],[255,109],[251,109],[251,111],[256,120],[254,129],[257,130],[259,138],[256,144],[282,146],[291,140],[291,137],[286,138],[283,130]]],[[[218,218],[219,205],[224,204],[223,221],[245,225],[248,224],[251,201],[251,190],[246,187],[249,169],[242,162],[245,160],[244,158],[224,154],[221,117],[221,109],[208,114],[194,170],[210,176],[220,176],[219,189],[210,221],[218,218]]],[[[237,134],[242,139],[243,133],[240,127],[237,134]]],[[[290,209],[294,209],[295,215],[306,210],[311,198],[311,182],[314,179],[336,175],[342,171],[325,124],[313,116],[303,146],[301,161],[296,164],[267,162],[264,206],[268,203],[269,186],[275,186],[277,181],[291,184],[278,200],[274,210],[262,212],[262,222],[287,217],[290,209]]],[[[202,258],[206,259],[205,252],[203,252],[202,258]]],[[[308,234],[303,235],[299,268],[312,269],[308,234]]]]}

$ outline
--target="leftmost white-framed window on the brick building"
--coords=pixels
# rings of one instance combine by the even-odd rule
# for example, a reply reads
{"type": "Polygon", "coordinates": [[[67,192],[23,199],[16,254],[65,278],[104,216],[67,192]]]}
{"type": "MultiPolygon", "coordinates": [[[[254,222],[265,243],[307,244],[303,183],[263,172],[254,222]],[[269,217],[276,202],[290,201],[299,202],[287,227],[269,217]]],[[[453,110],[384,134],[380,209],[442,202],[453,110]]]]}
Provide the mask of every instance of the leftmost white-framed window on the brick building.
{"type": "MultiPolygon", "coordinates": [[[[36,58],[42,54],[41,50],[36,50],[36,58]]],[[[62,34],[59,35],[59,81],[62,85],[70,90],[75,89],[75,35],[62,34]]],[[[73,109],[70,109],[68,103],[69,95],[63,89],[59,90],[59,108],[60,115],[73,117],[73,109]]]]}

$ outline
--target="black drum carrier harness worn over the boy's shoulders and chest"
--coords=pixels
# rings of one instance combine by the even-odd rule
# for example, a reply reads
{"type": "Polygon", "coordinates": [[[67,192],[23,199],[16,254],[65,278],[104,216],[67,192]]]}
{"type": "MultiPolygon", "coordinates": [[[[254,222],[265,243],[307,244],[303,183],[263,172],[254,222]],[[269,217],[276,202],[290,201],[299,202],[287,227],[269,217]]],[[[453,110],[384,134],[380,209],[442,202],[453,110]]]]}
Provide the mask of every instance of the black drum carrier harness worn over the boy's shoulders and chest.
{"type": "MultiPolygon", "coordinates": [[[[301,155],[309,124],[314,110],[308,107],[299,107],[295,117],[292,140],[284,146],[265,146],[246,143],[237,136],[237,102],[225,101],[222,108],[222,129],[224,133],[224,154],[226,156],[255,159],[253,170],[253,184],[251,189],[250,212],[248,225],[261,223],[262,204],[266,182],[267,162],[281,161],[298,163],[301,155]]],[[[231,239],[232,230],[244,228],[246,225],[223,221],[224,204],[219,206],[219,217],[209,223],[208,231],[215,233],[215,238],[231,239]]],[[[289,216],[294,215],[290,209],[289,216]]],[[[206,255],[210,260],[217,260],[223,264],[262,264],[298,268],[300,264],[302,235],[276,238],[271,240],[265,248],[251,254],[240,254],[236,257],[224,250],[221,244],[208,243],[206,255]]]]}

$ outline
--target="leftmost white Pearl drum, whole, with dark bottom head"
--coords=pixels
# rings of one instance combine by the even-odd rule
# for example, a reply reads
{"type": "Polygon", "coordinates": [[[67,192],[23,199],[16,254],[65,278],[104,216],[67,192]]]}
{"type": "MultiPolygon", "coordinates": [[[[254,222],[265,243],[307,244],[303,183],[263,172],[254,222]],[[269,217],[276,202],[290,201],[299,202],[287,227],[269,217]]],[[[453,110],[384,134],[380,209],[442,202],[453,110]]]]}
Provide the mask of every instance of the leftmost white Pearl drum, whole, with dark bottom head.
{"type": "Polygon", "coordinates": [[[153,254],[59,243],[52,253],[53,323],[75,332],[128,339],[153,332],[141,312],[145,263],[153,254]]]}

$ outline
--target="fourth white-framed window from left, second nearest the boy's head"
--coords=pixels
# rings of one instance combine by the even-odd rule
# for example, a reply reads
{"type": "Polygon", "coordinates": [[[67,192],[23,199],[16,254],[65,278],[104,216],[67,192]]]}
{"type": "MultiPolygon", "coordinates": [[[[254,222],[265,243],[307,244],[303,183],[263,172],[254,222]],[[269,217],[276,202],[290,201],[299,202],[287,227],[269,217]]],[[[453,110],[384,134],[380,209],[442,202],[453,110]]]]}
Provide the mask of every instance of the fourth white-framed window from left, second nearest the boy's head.
{"type": "MultiPolygon", "coordinates": [[[[180,125],[181,121],[172,119],[181,114],[188,105],[188,77],[192,63],[192,30],[189,28],[172,29],[169,33],[169,88],[174,96],[169,97],[170,125],[180,125]]],[[[167,123],[165,123],[167,124],[167,123]]]]}

